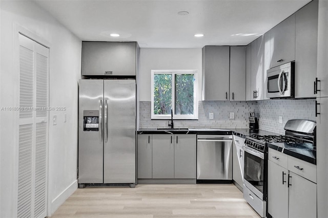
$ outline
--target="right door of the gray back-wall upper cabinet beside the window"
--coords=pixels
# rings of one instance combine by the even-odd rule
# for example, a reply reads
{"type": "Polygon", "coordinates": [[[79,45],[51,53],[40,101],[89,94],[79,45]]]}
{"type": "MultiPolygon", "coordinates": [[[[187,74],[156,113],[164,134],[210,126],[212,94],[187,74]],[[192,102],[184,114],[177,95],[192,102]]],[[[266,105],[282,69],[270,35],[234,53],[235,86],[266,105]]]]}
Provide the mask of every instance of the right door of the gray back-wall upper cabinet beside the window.
{"type": "Polygon", "coordinates": [[[230,47],[230,100],[245,101],[246,91],[245,46],[230,47]]]}

